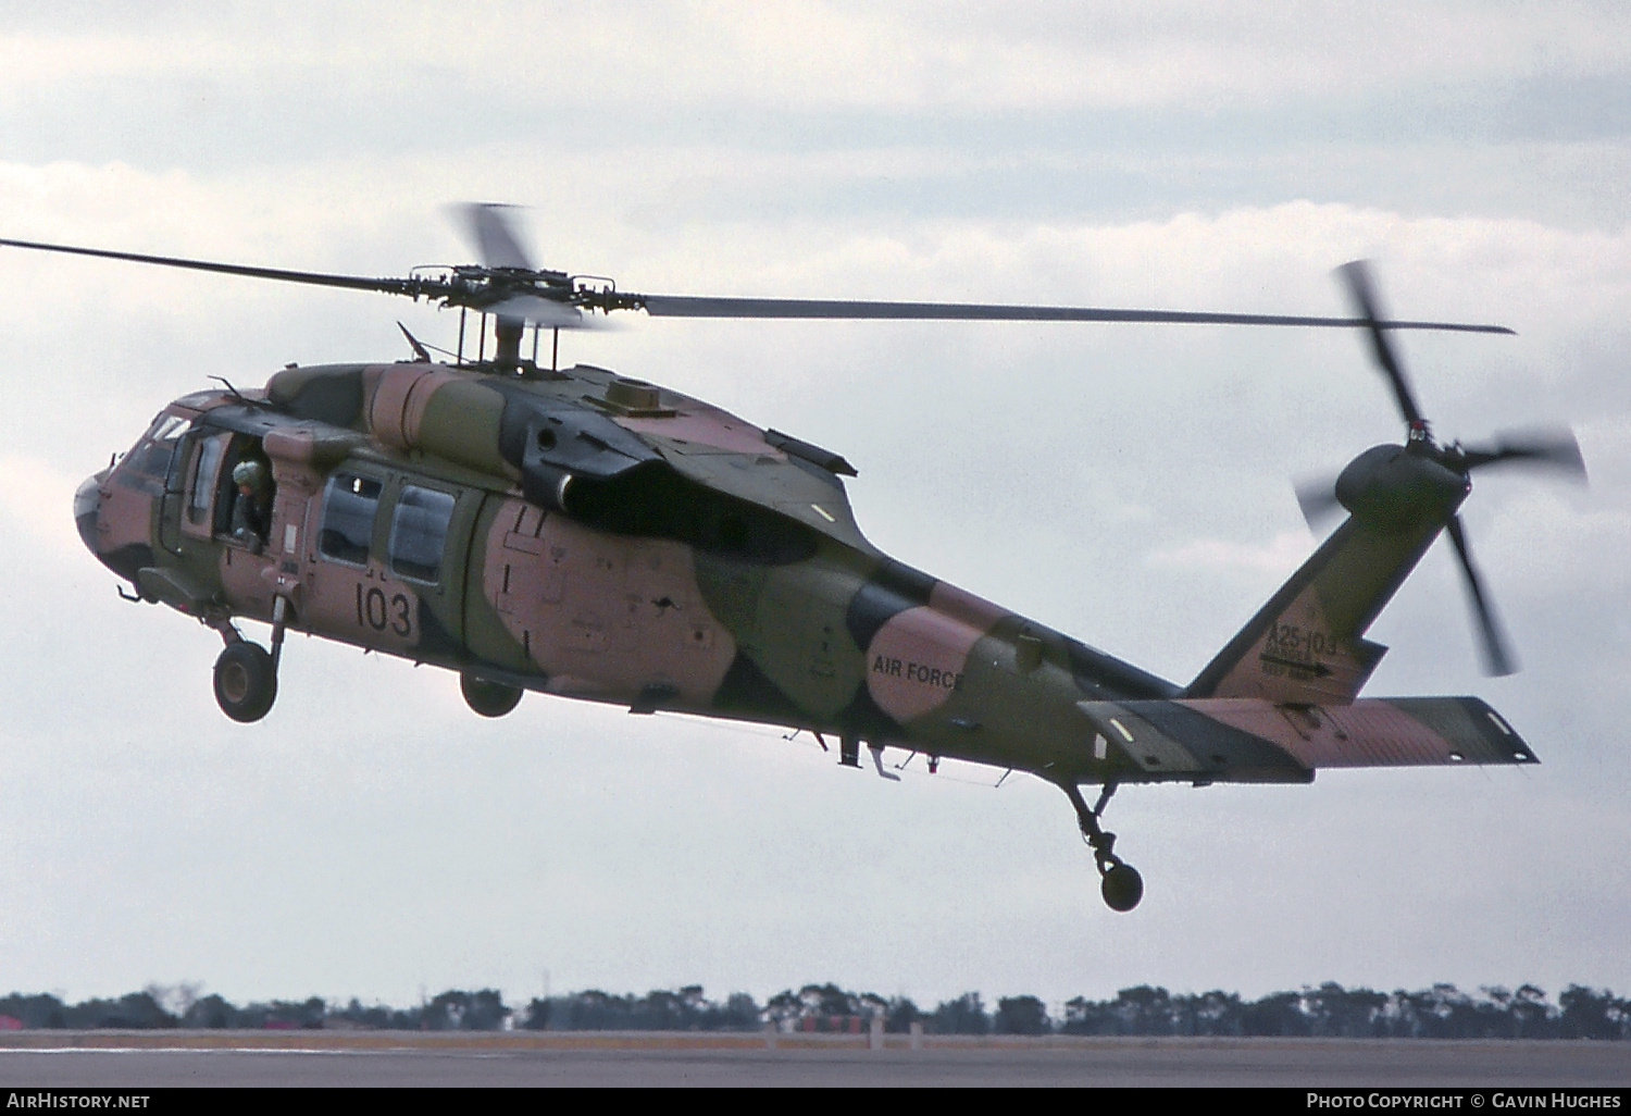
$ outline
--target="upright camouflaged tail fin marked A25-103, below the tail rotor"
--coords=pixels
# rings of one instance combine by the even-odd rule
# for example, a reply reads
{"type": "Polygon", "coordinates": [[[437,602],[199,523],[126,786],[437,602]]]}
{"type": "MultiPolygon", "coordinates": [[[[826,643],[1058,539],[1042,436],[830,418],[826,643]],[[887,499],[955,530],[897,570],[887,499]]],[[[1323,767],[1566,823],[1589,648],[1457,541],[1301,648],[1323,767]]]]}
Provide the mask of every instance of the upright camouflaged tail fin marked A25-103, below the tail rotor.
{"type": "Polygon", "coordinates": [[[1440,530],[1439,516],[1388,529],[1349,517],[1184,697],[1347,705],[1386,651],[1365,640],[1365,630],[1440,530]]]}

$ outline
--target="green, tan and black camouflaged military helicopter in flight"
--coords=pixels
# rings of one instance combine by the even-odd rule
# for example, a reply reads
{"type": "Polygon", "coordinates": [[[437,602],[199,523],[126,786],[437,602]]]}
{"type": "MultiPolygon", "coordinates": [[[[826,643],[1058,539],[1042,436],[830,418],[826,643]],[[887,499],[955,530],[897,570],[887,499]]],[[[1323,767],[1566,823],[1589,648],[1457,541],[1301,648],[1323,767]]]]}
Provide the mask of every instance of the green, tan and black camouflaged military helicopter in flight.
{"type": "Polygon", "coordinates": [[[289,365],[264,388],[184,395],[80,486],[80,537],[132,586],[121,596],[223,640],[214,689],[235,721],[272,708],[295,630],[457,671],[481,716],[537,690],[807,729],[822,747],[833,736],[840,764],[860,767],[864,744],[886,778],[897,778],[886,747],[923,752],[931,772],[943,757],[1023,770],[1068,796],[1116,910],[1143,896],[1101,826],[1124,783],[1536,762],[1479,698],[1359,697],[1385,653],[1367,628],[1445,530],[1486,667],[1514,669],[1456,509],[1483,467],[1584,478],[1579,447],[1567,431],[1437,442],[1388,343],[1393,330],[1510,330],[1388,320],[1364,263],[1339,269],[1347,318],[630,294],[535,268],[502,207],[466,215],[481,264],[385,279],[0,240],[460,308],[452,362],[403,328],[408,361],[289,365]],[[881,553],[855,522],[843,478],[856,472],[842,455],[639,379],[540,364],[545,330],[558,341],[621,310],[1355,328],[1406,441],[1298,493],[1311,525],[1347,517],[1179,685],[881,553]],[[269,623],[271,649],[245,640],[240,620],[269,623]],[[1094,804],[1083,786],[1101,788],[1094,804]]]}

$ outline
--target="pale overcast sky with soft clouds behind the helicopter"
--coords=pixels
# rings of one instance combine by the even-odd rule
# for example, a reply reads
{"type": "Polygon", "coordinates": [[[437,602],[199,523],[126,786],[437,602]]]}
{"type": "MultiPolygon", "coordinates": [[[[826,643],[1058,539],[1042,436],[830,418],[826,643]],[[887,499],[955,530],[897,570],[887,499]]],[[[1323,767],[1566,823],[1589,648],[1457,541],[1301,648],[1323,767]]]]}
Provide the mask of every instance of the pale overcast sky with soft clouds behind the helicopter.
{"type": "MultiPolygon", "coordinates": [[[[8,5],[0,237],[401,274],[506,201],[633,290],[1280,313],[1368,256],[1401,317],[1518,331],[1401,341],[1435,431],[1569,423],[1592,486],[1479,475],[1465,511],[1522,674],[1481,677],[1442,543],[1372,630],[1367,693],[1476,693],[1540,767],[1127,788],[1117,915],[1031,778],[538,695],[489,723],[305,638],[227,721],[219,638],[116,597],[75,485],[206,377],[457,318],[3,250],[0,992],[1631,994],[1628,181],[1611,3],[8,5]]],[[[563,357],[842,452],[879,547],[1179,682],[1313,550],[1292,478],[1401,436],[1339,331],[630,318],[563,357]]]]}

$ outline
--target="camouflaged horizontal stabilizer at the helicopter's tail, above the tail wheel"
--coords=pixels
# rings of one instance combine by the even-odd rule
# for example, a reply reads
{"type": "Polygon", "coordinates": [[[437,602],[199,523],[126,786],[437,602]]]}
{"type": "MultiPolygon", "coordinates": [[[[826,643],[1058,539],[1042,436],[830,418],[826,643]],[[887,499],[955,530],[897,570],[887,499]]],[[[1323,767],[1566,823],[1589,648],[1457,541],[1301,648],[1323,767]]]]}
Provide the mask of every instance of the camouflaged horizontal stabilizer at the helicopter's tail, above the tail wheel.
{"type": "Polygon", "coordinates": [[[1262,698],[1078,702],[1096,759],[1122,782],[1306,783],[1321,767],[1535,764],[1528,744],[1474,697],[1275,705],[1262,698]]]}

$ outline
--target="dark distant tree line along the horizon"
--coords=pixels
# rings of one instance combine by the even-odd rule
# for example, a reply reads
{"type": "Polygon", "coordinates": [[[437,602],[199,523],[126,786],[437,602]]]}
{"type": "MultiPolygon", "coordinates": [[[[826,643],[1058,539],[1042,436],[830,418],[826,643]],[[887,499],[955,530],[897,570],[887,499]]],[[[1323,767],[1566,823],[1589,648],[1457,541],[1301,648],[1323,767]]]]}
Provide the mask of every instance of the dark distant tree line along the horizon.
{"type": "Polygon", "coordinates": [[[197,987],[150,985],[116,1000],[64,1003],[54,995],[13,992],[0,999],[0,1028],[378,1028],[404,1031],[860,1031],[881,1018],[886,1031],[928,1034],[1202,1034],[1333,1038],[1533,1038],[1631,1039],[1631,1000],[1607,989],[1571,984],[1553,1003],[1532,985],[1486,987],[1468,995],[1453,984],[1421,992],[1375,992],[1339,984],[1272,992],[1243,1000],[1233,992],[1173,995],[1166,989],[1122,989],[1112,1000],[1076,997],[1062,1018],[1034,995],[987,1007],[979,992],[931,1012],[905,997],[806,984],[758,1003],[745,992],[723,1002],[701,985],[615,995],[589,990],[540,997],[520,1008],[494,989],[447,990],[411,1008],[346,1005],[320,997],[238,1007],[197,987]]]}

